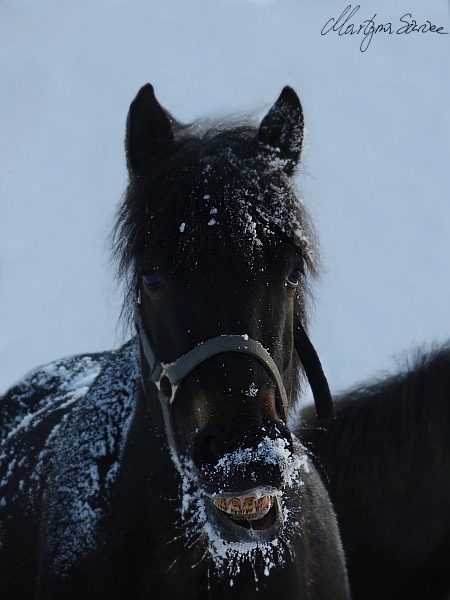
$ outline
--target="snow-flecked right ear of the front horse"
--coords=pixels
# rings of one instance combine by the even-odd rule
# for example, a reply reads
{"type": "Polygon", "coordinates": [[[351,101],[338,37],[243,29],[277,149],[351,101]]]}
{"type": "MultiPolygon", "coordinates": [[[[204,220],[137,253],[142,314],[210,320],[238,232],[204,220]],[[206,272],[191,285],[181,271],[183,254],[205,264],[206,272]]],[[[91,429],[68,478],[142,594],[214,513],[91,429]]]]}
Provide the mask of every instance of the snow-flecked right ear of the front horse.
{"type": "Polygon", "coordinates": [[[257,140],[282,159],[282,169],[291,174],[300,160],[304,119],[300,99],[286,86],[261,122],[257,140]]]}

